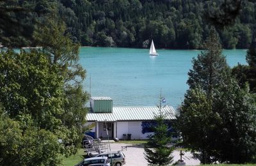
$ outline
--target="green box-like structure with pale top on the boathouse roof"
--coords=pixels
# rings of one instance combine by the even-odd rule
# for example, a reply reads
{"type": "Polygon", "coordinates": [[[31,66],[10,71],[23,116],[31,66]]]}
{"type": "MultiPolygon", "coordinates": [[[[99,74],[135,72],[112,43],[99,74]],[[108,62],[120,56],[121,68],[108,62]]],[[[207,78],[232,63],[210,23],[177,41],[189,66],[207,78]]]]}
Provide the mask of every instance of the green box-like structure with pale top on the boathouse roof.
{"type": "Polygon", "coordinates": [[[94,113],[112,113],[113,100],[109,97],[92,97],[91,108],[94,113]]]}

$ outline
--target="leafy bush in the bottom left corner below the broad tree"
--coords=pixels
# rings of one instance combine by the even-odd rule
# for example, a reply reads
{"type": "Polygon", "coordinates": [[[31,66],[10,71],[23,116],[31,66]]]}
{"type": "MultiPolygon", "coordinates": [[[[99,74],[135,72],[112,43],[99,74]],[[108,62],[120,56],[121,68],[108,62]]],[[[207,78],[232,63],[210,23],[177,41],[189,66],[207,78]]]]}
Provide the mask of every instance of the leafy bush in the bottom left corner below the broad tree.
{"type": "Polygon", "coordinates": [[[0,165],[59,165],[63,145],[58,137],[37,128],[29,115],[17,118],[10,119],[1,110],[0,165]]]}

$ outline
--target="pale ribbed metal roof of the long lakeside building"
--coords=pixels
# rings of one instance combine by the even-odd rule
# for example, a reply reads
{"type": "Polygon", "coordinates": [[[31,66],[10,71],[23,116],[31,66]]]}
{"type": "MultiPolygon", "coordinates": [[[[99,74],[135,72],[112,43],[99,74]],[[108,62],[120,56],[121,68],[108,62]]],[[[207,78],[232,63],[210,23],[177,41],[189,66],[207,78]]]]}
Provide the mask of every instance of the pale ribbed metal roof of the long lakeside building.
{"type": "MultiPolygon", "coordinates": [[[[166,106],[161,111],[166,116],[165,119],[176,119],[175,110],[171,106],[166,106]]],[[[153,120],[159,114],[158,107],[113,107],[112,113],[86,114],[87,121],[145,121],[153,120]]]]}

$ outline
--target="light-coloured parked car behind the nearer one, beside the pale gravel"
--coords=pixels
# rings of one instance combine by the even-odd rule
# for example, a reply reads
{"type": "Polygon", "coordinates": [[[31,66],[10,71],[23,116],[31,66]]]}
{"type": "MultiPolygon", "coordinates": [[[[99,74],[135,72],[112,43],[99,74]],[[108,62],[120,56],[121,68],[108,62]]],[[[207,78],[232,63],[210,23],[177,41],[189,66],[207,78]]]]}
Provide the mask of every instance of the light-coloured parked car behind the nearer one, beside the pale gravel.
{"type": "Polygon", "coordinates": [[[122,151],[105,152],[105,153],[100,153],[97,156],[107,156],[109,163],[113,163],[112,164],[113,166],[125,165],[125,155],[124,153],[122,153],[122,151]]]}

